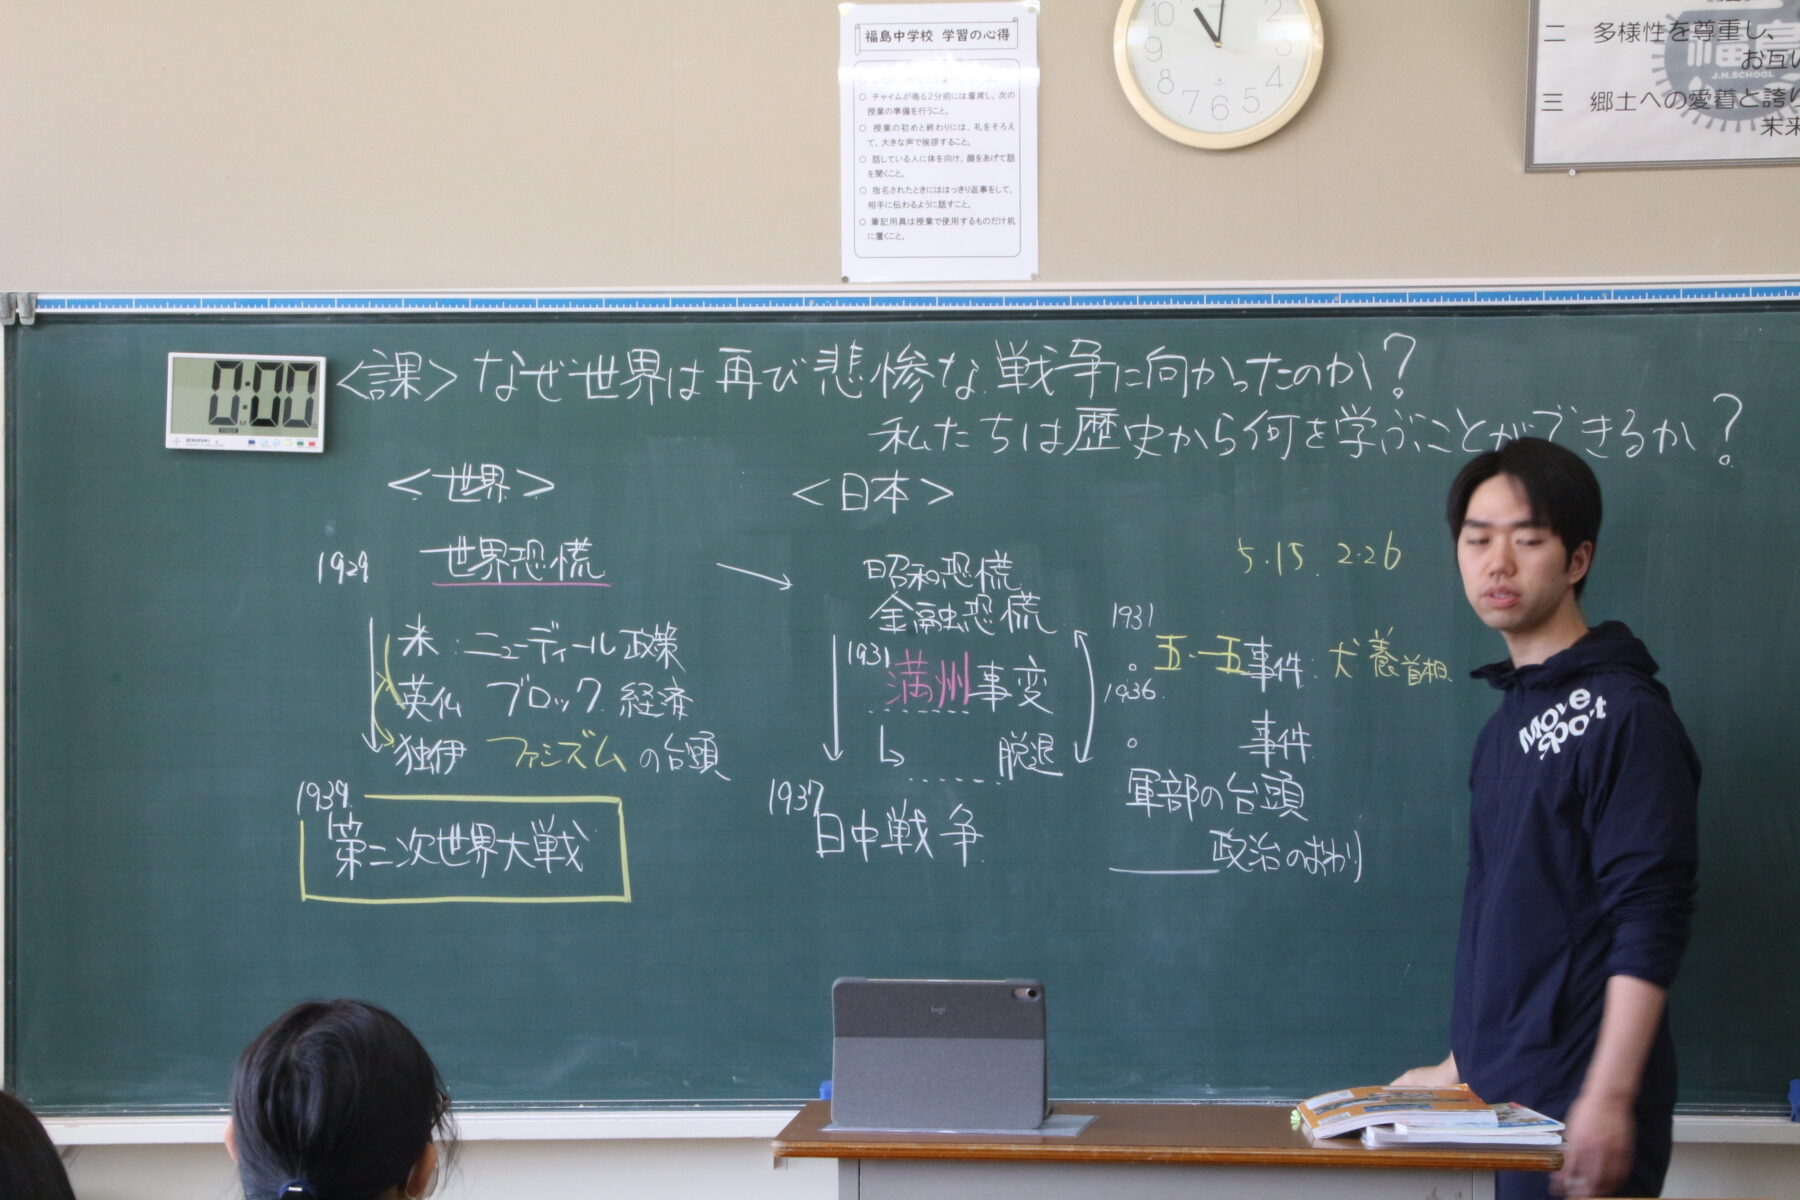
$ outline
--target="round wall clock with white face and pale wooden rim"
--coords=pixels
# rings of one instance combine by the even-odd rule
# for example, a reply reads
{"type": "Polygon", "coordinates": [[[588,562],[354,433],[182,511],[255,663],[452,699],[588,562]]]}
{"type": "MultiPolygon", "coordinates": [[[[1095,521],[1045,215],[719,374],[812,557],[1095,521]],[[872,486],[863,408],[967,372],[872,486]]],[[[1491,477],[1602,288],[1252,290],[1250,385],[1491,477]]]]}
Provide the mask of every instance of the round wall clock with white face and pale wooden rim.
{"type": "Polygon", "coordinates": [[[1112,36],[1138,115],[1206,149],[1246,146],[1292,121],[1323,58],[1314,0],[1125,0],[1112,36]]]}

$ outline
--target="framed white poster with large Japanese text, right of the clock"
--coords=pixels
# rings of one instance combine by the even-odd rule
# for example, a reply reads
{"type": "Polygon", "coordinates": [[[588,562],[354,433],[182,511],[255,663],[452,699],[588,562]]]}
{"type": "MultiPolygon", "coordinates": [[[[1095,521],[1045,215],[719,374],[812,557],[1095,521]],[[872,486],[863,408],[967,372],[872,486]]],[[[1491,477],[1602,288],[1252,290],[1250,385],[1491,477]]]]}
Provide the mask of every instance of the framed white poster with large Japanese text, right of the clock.
{"type": "Polygon", "coordinates": [[[1800,0],[1534,0],[1525,166],[1800,162],[1800,0]]]}

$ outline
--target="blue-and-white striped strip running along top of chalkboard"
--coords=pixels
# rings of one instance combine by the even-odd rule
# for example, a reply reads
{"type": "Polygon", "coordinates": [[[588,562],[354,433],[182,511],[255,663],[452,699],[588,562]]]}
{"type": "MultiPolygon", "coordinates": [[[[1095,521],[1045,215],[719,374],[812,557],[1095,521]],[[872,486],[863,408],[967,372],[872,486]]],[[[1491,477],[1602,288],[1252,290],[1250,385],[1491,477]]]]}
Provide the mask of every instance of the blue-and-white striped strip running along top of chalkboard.
{"type": "Polygon", "coordinates": [[[36,313],[742,313],[742,311],[1004,311],[1004,309],[1262,309],[1462,308],[1512,304],[1692,304],[1800,300],[1800,282],[1490,284],[1422,288],[1269,288],[1186,291],[947,293],[367,293],[367,295],[54,295],[36,313]]]}

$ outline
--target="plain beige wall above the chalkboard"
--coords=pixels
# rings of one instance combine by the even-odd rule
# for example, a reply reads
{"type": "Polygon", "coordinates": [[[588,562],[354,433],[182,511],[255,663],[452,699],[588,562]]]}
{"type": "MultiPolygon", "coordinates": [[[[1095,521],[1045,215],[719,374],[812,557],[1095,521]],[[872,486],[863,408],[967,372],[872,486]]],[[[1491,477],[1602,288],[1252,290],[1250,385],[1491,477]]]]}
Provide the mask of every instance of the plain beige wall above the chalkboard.
{"type": "MultiPolygon", "coordinates": [[[[1796,167],[1525,175],[1526,0],[1323,0],[1210,155],[1044,0],[1042,281],[1800,273],[1796,167]]],[[[0,288],[835,284],[830,0],[0,0],[0,288]],[[263,63],[274,63],[265,79],[263,63]]]]}

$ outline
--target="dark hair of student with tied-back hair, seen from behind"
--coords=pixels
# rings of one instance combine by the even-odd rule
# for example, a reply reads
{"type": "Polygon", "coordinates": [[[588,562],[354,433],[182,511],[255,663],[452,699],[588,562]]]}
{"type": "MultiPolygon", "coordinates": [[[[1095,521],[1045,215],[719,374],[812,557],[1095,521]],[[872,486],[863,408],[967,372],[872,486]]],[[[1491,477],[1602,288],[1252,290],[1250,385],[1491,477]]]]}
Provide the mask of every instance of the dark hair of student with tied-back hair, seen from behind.
{"type": "Polygon", "coordinates": [[[405,1191],[450,1097],[392,1013],[311,1000],[245,1047],[230,1108],[248,1200],[374,1200],[405,1191]]]}

